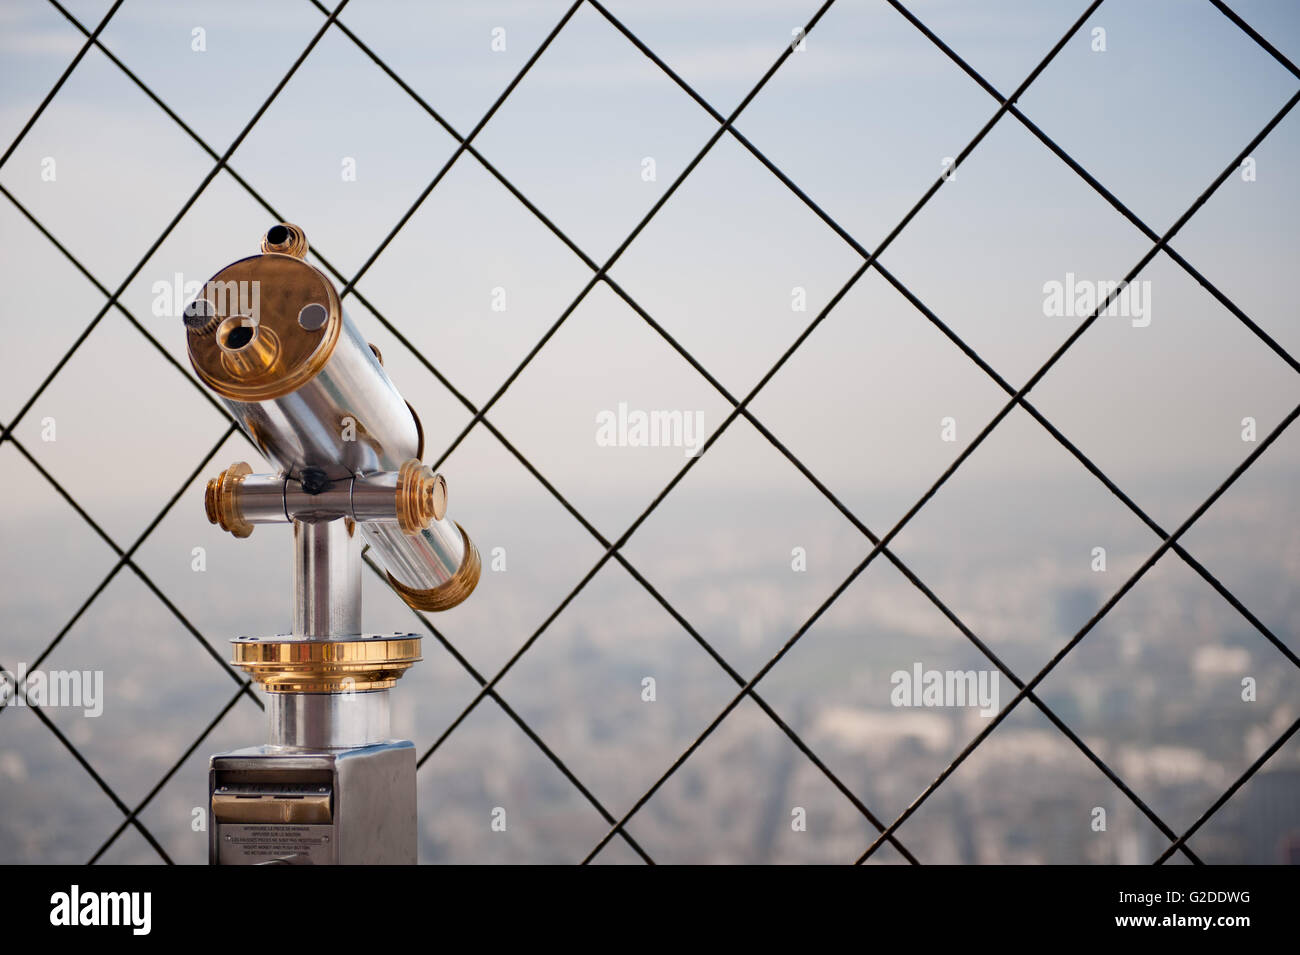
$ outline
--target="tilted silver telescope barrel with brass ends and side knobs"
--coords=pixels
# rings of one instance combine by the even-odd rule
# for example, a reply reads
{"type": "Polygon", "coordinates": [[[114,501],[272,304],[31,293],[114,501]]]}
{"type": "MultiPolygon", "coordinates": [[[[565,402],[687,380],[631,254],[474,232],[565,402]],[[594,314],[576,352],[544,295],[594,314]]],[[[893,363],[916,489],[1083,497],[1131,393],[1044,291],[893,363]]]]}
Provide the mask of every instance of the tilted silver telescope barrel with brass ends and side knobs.
{"type": "Polygon", "coordinates": [[[334,285],[304,261],[306,252],[300,229],[277,225],[263,238],[261,255],[218,272],[186,309],[195,373],[286,478],[277,511],[265,494],[255,494],[266,476],[251,476],[247,465],[239,474],[228,469],[209,482],[208,516],[237,534],[251,533],[261,520],[283,520],[280,513],[350,517],[408,604],[454,607],[478,581],[478,552],[445,517],[445,485],[442,508],[413,499],[437,492],[432,474],[408,478],[408,520],[385,516],[400,496],[400,476],[411,473],[412,460],[419,465],[422,430],[334,285]],[[348,502],[339,509],[344,489],[348,502]]]}

